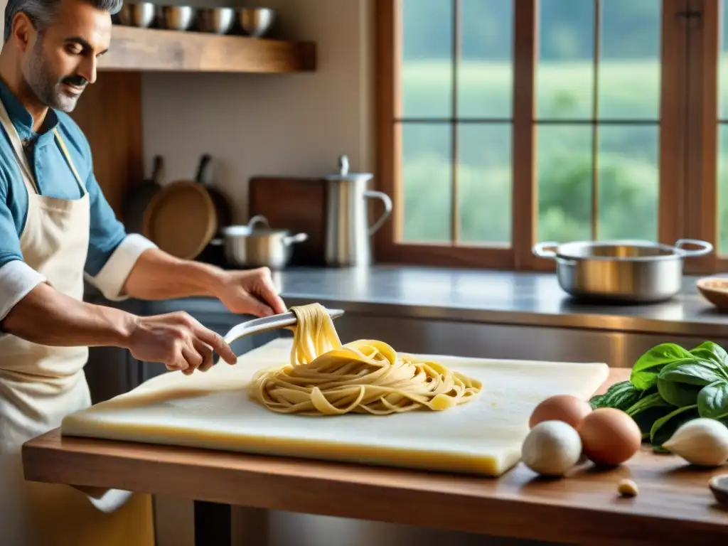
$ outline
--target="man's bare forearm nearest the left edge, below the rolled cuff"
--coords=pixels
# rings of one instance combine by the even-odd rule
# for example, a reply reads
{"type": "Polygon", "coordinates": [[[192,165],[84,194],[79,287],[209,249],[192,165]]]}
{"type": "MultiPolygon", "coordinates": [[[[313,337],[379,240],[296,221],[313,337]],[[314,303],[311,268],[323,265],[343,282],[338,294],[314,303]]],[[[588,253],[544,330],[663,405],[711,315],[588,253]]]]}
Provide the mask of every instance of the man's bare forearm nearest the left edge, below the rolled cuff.
{"type": "Polygon", "coordinates": [[[10,309],[2,329],[55,347],[128,347],[136,318],[120,309],[78,301],[41,283],[10,309]]]}

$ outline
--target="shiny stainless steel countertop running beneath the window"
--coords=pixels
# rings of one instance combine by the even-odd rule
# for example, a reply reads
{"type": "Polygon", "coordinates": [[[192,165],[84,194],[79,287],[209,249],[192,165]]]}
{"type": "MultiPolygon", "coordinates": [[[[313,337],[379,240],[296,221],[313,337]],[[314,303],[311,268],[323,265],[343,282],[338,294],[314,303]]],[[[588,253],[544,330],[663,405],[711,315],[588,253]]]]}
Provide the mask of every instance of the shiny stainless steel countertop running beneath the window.
{"type": "MultiPolygon", "coordinates": [[[[274,272],[286,304],[320,302],[347,312],[634,333],[728,338],[728,313],[684,277],[682,293],[660,304],[574,301],[555,274],[378,265],[370,269],[295,267],[274,272]]],[[[212,298],[186,298],[203,312],[227,312],[212,298]]]]}

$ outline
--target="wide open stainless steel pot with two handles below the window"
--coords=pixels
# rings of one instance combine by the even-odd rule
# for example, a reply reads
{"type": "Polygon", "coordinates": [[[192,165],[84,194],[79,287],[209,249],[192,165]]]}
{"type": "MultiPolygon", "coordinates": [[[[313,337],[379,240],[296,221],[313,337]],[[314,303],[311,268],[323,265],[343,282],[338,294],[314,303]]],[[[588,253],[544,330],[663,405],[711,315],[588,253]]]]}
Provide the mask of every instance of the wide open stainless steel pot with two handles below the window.
{"type": "Polygon", "coordinates": [[[634,303],[675,296],[682,288],[684,258],[712,250],[711,243],[692,239],[674,246],[642,240],[540,242],[532,249],[556,262],[558,284],[571,296],[634,303]]]}

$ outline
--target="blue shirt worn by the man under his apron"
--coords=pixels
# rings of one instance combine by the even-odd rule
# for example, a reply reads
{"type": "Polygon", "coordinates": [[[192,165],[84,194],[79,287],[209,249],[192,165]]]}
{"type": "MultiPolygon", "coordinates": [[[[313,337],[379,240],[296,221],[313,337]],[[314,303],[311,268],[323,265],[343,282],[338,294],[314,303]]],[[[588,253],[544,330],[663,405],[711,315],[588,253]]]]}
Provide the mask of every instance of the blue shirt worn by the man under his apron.
{"type": "MultiPolygon", "coordinates": [[[[28,146],[26,157],[35,175],[39,193],[60,199],[79,199],[82,197],[81,189],[53,134],[53,130],[58,129],[89,194],[91,226],[84,270],[95,277],[124,240],[126,232],[98,186],[86,137],[71,116],[52,108],[49,108],[41,130],[34,132],[33,116],[1,79],[0,100],[21,141],[29,139],[35,142],[34,146],[28,146]]],[[[0,267],[9,261],[23,259],[20,234],[27,214],[28,191],[10,139],[0,125],[0,267]]]]}

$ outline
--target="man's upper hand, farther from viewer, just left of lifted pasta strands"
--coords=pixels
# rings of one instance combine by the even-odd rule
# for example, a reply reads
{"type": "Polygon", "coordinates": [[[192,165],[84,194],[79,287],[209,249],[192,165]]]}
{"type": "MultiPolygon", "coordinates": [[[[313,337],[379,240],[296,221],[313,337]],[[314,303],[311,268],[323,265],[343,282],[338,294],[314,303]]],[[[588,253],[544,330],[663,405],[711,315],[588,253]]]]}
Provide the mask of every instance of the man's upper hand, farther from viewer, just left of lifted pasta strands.
{"type": "Polygon", "coordinates": [[[215,297],[237,314],[268,317],[286,312],[285,304],[278,296],[267,267],[224,272],[215,290],[215,297]]]}

